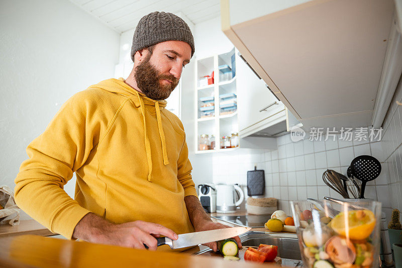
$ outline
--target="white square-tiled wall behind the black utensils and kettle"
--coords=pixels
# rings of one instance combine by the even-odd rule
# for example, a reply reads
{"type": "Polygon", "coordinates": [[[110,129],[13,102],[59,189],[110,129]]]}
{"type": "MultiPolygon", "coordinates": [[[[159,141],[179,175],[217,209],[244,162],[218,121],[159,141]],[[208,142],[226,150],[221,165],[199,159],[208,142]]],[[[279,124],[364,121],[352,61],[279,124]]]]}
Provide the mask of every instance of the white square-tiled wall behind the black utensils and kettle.
{"type": "MultiPolygon", "coordinates": [[[[394,100],[402,100],[402,85],[399,82],[394,100]]],[[[393,102],[394,102],[393,100],[393,102]]],[[[383,122],[381,141],[343,140],[336,135],[334,141],[304,140],[292,142],[290,135],[276,139],[278,147],[273,151],[213,155],[213,182],[246,184],[247,171],[265,170],[265,196],[278,199],[278,207],[290,214],[289,201],[331,196],[341,198],[322,180],[327,168],[346,175],[354,157],[372,155],[381,162],[382,171],[376,180],[366,186],[365,197],[382,202],[383,211],[389,218],[392,208],[402,211],[402,107],[392,103],[383,122]],[[235,182],[236,181],[236,182],[235,182]]],[[[369,128],[367,128],[369,130],[369,128]]],[[[235,153],[236,152],[236,153],[235,153]]]]}

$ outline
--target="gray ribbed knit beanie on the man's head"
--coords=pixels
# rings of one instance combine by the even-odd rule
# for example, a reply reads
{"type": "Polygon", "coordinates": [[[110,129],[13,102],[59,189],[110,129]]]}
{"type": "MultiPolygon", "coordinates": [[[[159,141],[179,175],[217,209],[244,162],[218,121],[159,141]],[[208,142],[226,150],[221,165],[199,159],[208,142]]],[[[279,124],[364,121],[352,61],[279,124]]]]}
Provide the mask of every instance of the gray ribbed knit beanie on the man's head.
{"type": "Polygon", "coordinates": [[[131,59],[142,49],[157,43],[178,40],[186,42],[191,47],[191,57],[194,54],[194,39],[188,25],[172,13],[153,12],[141,18],[134,31],[131,59]]]}

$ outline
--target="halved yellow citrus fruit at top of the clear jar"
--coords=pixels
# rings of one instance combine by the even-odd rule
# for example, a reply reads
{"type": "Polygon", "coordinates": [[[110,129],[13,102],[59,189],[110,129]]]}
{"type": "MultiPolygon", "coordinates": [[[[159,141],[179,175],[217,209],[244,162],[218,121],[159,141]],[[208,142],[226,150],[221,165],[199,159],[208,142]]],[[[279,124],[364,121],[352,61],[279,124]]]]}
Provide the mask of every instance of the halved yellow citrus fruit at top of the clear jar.
{"type": "Polygon", "coordinates": [[[339,235],[346,236],[353,240],[366,239],[375,227],[374,213],[367,209],[351,210],[339,213],[331,221],[331,227],[339,235]]]}

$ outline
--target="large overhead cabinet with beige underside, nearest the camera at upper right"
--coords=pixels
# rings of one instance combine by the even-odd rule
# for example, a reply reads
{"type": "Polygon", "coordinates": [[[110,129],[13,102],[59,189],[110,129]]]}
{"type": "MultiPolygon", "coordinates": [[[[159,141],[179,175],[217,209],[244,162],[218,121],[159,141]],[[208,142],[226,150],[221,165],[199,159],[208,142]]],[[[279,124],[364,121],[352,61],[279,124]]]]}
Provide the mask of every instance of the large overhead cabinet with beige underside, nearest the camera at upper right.
{"type": "Polygon", "coordinates": [[[221,0],[223,32],[305,130],[382,122],[402,71],[394,11],[392,0],[221,0]]]}

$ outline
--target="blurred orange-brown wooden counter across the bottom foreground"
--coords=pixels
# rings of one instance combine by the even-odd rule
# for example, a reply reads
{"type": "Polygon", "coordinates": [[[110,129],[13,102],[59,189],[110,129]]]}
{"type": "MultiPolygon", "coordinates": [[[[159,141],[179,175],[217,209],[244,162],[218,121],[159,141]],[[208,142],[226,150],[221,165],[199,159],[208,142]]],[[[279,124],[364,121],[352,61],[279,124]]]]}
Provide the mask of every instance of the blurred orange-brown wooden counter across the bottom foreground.
{"type": "Polygon", "coordinates": [[[0,263],[7,267],[275,267],[268,263],[227,261],[217,257],[148,251],[37,235],[0,238],[0,263]]]}

